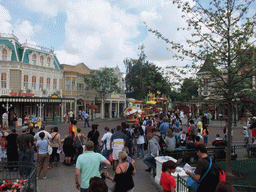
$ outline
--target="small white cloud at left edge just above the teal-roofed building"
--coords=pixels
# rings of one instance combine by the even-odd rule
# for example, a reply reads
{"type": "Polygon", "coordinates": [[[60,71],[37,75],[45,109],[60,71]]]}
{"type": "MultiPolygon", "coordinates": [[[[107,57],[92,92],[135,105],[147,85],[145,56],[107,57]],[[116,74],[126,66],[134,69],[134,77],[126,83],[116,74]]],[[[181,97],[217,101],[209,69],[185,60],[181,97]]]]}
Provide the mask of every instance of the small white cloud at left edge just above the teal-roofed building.
{"type": "Polygon", "coordinates": [[[1,33],[11,33],[12,32],[12,25],[10,23],[11,21],[11,15],[9,11],[0,5],[0,32],[1,33]]]}

